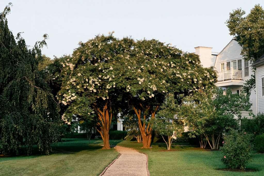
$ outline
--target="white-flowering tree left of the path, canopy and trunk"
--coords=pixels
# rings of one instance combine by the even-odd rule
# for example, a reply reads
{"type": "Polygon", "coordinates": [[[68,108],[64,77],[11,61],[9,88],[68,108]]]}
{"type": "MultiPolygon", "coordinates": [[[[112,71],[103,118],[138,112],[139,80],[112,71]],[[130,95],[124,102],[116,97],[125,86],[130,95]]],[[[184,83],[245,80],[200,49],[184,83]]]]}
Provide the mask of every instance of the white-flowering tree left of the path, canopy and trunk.
{"type": "Polygon", "coordinates": [[[110,149],[109,129],[123,95],[116,88],[119,72],[115,64],[129,51],[131,41],[118,40],[110,33],[79,45],[72,57],[61,63],[63,81],[58,99],[66,107],[62,118],[68,124],[75,117],[97,118],[103,149],[110,149]]]}

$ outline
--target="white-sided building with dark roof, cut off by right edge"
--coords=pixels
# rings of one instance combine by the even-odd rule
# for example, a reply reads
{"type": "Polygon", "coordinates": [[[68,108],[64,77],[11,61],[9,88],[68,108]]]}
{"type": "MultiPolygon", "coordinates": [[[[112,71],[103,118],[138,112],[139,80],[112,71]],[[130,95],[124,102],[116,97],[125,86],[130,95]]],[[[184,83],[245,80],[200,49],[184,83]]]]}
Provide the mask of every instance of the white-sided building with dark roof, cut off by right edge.
{"type": "Polygon", "coordinates": [[[264,54],[251,66],[256,68],[256,110],[264,113],[264,54]]]}

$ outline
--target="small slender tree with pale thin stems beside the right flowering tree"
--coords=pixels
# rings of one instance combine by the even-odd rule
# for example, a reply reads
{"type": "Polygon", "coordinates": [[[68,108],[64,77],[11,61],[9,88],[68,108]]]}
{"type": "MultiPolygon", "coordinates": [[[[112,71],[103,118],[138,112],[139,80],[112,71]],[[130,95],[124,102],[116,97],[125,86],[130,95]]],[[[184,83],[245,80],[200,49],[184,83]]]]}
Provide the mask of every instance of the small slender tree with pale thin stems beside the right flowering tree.
{"type": "Polygon", "coordinates": [[[153,120],[153,129],[162,136],[166,142],[167,150],[171,149],[173,139],[184,131],[184,122],[177,118],[178,104],[172,93],[169,93],[153,120]],[[165,138],[164,138],[165,137],[165,138]]]}

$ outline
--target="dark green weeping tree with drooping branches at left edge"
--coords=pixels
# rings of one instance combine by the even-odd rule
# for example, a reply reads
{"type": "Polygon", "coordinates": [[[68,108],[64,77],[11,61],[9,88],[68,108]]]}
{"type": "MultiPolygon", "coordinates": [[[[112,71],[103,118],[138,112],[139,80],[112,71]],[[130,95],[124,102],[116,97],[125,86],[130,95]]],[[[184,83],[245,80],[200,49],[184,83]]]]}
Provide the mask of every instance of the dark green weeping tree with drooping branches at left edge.
{"type": "Polygon", "coordinates": [[[11,5],[0,13],[0,153],[19,154],[25,146],[30,154],[37,145],[49,154],[60,136],[60,117],[46,77],[38,68],[47,35],[32,49],[20,33],[15,39],[6,19],[11,5]]]}

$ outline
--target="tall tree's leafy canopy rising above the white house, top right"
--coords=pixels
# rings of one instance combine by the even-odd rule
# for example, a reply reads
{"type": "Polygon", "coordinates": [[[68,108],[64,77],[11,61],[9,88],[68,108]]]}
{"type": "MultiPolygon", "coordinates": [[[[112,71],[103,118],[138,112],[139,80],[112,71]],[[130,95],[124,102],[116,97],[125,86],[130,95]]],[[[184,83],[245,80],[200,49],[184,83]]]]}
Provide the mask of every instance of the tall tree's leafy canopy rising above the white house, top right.
{"type": "MultiPolygon", "coordinates": [[[[255,5],[250,13],[241,8],[233,10],[226,21],[230,35],[238,41],[242,47],[241,55],[251,64],[264,54],[264,9],[260,4],[255,5]]],[[[247,80],[244,91],[249,94],[255,88],[255,74],[247,80]]]]}

